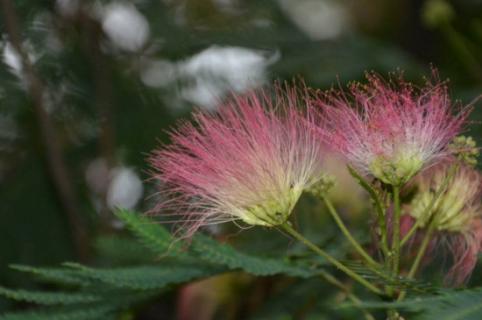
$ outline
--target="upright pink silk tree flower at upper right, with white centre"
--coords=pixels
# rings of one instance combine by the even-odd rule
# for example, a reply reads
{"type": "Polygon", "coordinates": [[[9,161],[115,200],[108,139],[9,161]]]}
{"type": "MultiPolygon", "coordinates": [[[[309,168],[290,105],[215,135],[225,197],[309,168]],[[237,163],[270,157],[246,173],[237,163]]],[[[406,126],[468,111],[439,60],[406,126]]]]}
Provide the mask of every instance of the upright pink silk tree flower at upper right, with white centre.
{"type": "Polygon", "coordinates": [[[471,108],[454,106],[443,83],[417,88],[401,75],[390,82],[366,77],[366,85],[353,83],[349,92],[315,95],[319,132],[362,174],[401,186],[450,153],[471,108]]]}

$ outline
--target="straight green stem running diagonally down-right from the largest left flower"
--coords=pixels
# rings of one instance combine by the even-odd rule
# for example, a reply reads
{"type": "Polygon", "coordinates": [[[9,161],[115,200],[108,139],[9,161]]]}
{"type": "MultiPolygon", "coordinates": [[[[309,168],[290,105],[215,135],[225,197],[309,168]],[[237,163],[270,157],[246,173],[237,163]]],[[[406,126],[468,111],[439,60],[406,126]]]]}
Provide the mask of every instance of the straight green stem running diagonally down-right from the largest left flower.
{"type": "Polygon", "coordinates": [[[376,293],[378,295],[382,295],[383,292],[375,287],[373,284],[362,278],[359,274],[355,273],[353,270],[349,269],[346,267],[343,263],[338,261],[336,258],[332,257],[330,254],[328,254],[326,251],[323,249],[319,248],[316,246],[314,243],[312,243],[310,240],[306,239],[302,234],[300,234],[298,231],[293,229],[293,227],[289,224],[289,222],[286,222],[281,225],[281,228],[286,231],[289,235],[291,235],[293,238],[296,240],[300,241],[303,243],[305,246],[310,248],[313,252],[321,256],[322,258],[328,260],[331,264],[333,264],[335,267],[346,273],[349,277],[351,277],[353,280],[357,281],[361,285],[365,286],[368,290],[372,291],[373,293],[376,293]]]}

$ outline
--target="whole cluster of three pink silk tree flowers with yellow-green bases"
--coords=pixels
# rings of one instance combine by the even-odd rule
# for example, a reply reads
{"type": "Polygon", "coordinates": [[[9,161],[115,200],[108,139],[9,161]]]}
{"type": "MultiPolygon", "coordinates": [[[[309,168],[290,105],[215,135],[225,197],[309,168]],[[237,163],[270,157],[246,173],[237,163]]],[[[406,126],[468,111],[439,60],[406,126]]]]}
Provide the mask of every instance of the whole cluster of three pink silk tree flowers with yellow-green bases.
{"type": "Polygon", "coordinates": [[[401,190],[399,223],[399,195],[383,209],[388,244],[430,234],[427,252],[451,249],[452,280],[470,275],[482,241],[477,152],[459,136],[470,106],[452,103],[445,83],[419,88],[373,73],[348,90],[273,91],[233,95],[171,132],[172,143],[151,156],[162,185],[157,211],[181,216],[187,234],[227,221],[279,227],[303,192],[327,191],[323,159],[336,153],[382,197],[401,190]]]}

